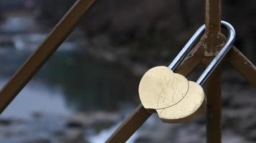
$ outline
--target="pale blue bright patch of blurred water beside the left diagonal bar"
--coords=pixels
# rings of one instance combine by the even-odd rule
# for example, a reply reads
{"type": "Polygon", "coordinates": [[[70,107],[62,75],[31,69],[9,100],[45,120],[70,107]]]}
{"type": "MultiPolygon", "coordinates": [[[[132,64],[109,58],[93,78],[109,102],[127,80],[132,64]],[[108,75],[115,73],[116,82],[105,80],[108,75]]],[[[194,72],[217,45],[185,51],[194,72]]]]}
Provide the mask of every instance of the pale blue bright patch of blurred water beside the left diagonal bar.
{"type": "MultiPolygon", "coordinates": [[[[6,83],[1,79],[0,87],[6,83]]],[[[29,119],[34,113],[67,115],[70,109],[65,104],[61,89],[49,89],[40,82],[29,83],[4,110],[1,117],[29,119]]]]}

